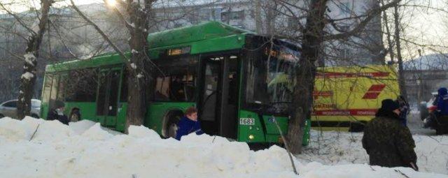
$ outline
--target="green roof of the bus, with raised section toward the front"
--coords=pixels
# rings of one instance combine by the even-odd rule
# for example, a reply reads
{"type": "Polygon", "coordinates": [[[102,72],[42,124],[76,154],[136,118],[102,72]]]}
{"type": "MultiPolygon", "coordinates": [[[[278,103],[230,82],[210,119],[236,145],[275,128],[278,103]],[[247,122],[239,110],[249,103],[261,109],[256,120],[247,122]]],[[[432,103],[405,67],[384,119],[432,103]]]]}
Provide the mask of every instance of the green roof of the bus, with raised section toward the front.
{"type": "MultiPolygon", "coordinates": [[[[155,32],[149,34],[147,38],[149,56],[151,59],[157,59],[161,51],[175,47],[190,47],[190,54],[235,50],[244,45],[246,34],[253,34],[253,32],[215,21],[155,32]]],[[[129,55],[130,53],[127,52],[126,54],[129,55]]],[[[45,71],[66,71],[122,63],[123,61],[118,54],[103,54],[92,59],[48,64],[45,71]]]]}

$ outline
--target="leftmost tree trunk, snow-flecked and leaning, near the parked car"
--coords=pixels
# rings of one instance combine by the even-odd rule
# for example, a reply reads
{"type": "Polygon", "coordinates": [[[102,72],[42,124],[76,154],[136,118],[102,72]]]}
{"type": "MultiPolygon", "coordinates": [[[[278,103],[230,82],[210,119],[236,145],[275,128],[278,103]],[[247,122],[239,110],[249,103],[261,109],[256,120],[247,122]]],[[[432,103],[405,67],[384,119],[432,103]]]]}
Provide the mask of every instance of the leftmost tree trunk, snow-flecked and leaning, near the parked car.
{"type": "Polygon", "coordinates": [[[42,17],[38,24],[37,34],[31,34],[27,44],[27,50],[25,50],[25,64],[23,66],[23,74],[20,77],[20,91],[18,97],[18,119],[23,119],[25,116],[29,116],[31,112],[31,98],[34,94],[34,83],[36,82],[36,67],[39,47],[42,43],[43,34],[45,33],[45,27],[48,22],[48,11],[52,4],[52,0],[41,0],[42,17]]]}

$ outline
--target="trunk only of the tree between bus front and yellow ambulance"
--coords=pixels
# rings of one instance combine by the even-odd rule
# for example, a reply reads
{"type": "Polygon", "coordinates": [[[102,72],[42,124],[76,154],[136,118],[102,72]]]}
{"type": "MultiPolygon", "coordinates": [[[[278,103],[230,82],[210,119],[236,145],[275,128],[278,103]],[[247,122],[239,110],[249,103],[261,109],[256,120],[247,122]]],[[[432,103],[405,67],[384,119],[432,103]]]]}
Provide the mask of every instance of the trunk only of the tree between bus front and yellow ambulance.
{"type": "Polygon", "coordinates": [[[293,98],[293,117],[288,126],[288,142],[293,154],[302,151],[303,127],[311,115],[313,104],[314,77],[316,61],[322,43],[323,27],[325,27],[325,9],[328,0],[311,0],[307,15],[307,24],[302,31],[302,53],[300,66],[296,67],[296,84],[293,98]]]}

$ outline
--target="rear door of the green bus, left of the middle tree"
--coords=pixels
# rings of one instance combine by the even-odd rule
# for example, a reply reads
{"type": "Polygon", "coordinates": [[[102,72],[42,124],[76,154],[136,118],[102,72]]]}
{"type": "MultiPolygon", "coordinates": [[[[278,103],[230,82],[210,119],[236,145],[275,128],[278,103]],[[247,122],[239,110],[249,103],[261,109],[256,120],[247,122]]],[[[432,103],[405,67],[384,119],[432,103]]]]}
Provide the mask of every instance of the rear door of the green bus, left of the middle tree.
{"type": "Polygon", "coordinates": [[[117,122],[120,70],[121,68],[105,68],[99,72],[97,117],[103,126],[115,126],[117,122]]]}

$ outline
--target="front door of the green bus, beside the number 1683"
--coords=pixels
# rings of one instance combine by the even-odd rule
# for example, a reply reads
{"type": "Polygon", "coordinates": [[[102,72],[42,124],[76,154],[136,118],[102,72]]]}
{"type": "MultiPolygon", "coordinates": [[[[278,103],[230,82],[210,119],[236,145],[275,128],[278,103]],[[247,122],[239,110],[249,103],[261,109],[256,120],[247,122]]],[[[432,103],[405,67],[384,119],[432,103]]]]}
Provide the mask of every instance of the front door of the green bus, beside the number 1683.
{"type": "Polygon", "coordinates": [[[237,57],[235,55],[202,58],[200,121],[202,130],[211,135],[236,138],[237,135],[237,57]]]}

